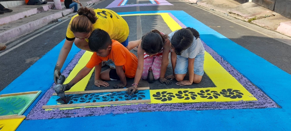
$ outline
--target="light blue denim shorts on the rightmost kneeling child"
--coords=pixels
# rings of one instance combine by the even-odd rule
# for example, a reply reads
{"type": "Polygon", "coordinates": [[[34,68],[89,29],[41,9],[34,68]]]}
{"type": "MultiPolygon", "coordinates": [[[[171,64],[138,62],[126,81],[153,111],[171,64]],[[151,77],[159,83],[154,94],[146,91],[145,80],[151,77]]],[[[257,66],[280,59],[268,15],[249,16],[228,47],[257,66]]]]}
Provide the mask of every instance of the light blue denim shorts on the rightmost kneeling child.
{"type": "MultiPolygon", "coordinates": [[[[203,76],[204,54],[198,55],[194,60],[194,74],[203,76]]],[[[188,58],[177,55],[175,74],[186,74],[188,72],[188,58]]]]}

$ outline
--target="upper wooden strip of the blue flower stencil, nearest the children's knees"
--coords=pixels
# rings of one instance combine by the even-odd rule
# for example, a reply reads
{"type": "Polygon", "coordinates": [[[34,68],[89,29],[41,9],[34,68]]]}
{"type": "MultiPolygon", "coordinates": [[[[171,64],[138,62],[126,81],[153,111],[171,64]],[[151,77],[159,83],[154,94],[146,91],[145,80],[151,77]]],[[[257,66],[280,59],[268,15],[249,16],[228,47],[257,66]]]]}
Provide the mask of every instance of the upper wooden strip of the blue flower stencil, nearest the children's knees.
{"type": "MultiPolygon", "coordinates": [[[[138,87],[137,90],[149,90],[150,87],[138,87]]],[[[105,90],[91,90],[91,91],[74,91],[74,92],[65,92],[66,95],[72,95],[72,94],[87,94],[87,93],[100,93],[100,92],[116,92],[116,91],[126,91],[127,88],[121,88],[121,89],[105,89],[105,90]]],[[[53,93],[53,95],[57,95],[56,93],[53,93]]]]}

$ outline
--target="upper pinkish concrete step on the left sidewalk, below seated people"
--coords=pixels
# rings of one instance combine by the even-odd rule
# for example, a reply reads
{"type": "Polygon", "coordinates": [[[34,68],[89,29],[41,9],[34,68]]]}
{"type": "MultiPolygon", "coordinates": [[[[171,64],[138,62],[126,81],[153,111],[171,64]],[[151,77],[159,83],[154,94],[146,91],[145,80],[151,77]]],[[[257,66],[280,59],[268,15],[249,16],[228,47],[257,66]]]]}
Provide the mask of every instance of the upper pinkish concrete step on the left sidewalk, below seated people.
{"type": "Polygon", "coordinates": [[[44,5],[42,7],[34,8],[34,9],[31,9],[31,10],[27,10],[27,11],[24,11],[24,12],[13,14],[13,15],[10,15],[10,16],[7,16],[7,17],[2,17],[2,18],[0,18],[0,25],[1,24],[6,24],[6,23],[9,23],[9,22],[13,22],[15,20],[24,18],[25,16],[30,16],[30,15],[34,15],[36,13],[47,11],[47,10],[51,9],[53,6],[54,6],[53,3],[47,3],[46,5],[44,5]]]}

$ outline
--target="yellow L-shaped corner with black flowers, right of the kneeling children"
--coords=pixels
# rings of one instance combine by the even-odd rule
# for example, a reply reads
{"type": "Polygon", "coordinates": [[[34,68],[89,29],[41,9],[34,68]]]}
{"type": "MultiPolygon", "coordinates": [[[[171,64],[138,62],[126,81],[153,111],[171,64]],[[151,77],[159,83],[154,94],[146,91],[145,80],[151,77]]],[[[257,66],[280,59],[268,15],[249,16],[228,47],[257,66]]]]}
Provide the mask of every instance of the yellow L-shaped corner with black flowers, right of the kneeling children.
{"type": "MultiPolygon", "coordinates": [[[[187,88],[187,89],[159,89],[159,90],[150,90],[151,94],[151,103],[182,103],[182,102],[230,102],[230,101],[251,101],[251,100],[257,100],[249,91],[247,91],[232,75],[230,75],[215,59],[208,53],[205,52],[205,61],[204,61],[204,71],[205,73],[209,76],[209,78],[212,80],[212,82],[217,86],[217,87],[208,87],[208,88],[187,88]],[[233,89],[233,90],[239,90],[239,92],[243,93],[242,98],[229,98],[229,97],[224,97],[223,95],[220,94],[220,92],[223,89],[233,89]],[[212,99],[207,99],[207,98],[202,98],[200,97],[201,95],[198,95],[198,93],[201,93],[200,91],[206,91],[210,90],[208,93],[212,95],[212,99]],[[170,94],[164,94],[163,98],[171,97],[171,100],[166,100],[166,101],[161,101],[157,100],[154,97],[154,94],[157,94],[157,92],[162,93],[165,92],[170,93],[170,94]],[[195,98],[191,98],[191,93],[186,93],[189,97],[188,100],[185,100],[187,96],[185,96],[183,93],[182,96],[184,96],[183,99],[179,99],[176,94],[178,94],[178,91],[188,91],[188,92],[194,92],[192,94],[195,94],[195,98]],[[211,91],[216,91],[216,93],[220,94],[217,95],[218,98],[213,98],[213,93],[211,91]],[[168,96],[171,95],[171,96],[168,96]],[[174,97],[173,97],[174,96],[174,97]]],[[[207,93],[204,93],[207,95],[207,93]]],[[[179,94],[178,94],[179,95],[179,94]]],[[[155,95],[156,96],[156,95],[155,95]]],[[[193,96],[193,95],[192,95],[193,96]]],[[[210,95],[208,95],[210,96],[210,95]]]]}

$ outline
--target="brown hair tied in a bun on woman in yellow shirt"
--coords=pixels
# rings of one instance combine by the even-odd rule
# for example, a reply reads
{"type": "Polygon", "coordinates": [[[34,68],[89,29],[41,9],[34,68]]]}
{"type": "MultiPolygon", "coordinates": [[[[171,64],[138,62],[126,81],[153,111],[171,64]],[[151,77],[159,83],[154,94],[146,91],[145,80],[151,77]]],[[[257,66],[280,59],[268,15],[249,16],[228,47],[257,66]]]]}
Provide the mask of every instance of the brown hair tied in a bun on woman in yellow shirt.
{"type": "Polygon", "coordinates": [[[93,9],[81,7],[78,15],[72,20],[71,31],[80,33],[89,33],[92,31],[92,25],[96,22],[97,17],[93,9]]]}

